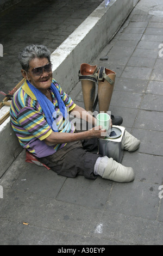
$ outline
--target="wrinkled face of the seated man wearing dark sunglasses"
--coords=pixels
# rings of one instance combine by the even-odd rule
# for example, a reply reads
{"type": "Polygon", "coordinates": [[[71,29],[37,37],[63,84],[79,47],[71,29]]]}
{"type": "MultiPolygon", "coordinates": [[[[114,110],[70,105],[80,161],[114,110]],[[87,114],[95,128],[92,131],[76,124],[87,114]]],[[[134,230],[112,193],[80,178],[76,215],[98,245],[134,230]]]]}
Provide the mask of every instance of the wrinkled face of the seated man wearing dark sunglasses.
{"type": "Polygon", "coordinates": [[[45,92],[49,87],[51,87],[52,70],[50,69],[46,71],[43,69],[41,75],[34,74],[32,70],[37,67],[45,66],[48,63],[47,58],[34,58],[29,62],[29,70],[27,71],[27,74],[24,73],[25,78],[42,92],[45,92]]]}

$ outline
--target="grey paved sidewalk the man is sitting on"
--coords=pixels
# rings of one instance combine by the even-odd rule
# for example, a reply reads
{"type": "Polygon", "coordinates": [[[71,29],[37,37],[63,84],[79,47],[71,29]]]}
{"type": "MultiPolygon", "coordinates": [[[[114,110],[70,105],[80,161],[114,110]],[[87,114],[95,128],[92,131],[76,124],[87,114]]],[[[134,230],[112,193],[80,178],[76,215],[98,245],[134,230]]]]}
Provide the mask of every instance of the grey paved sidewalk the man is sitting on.
{"type": "MultiPolygon", "coordinates": [[[[140,0],[90,63],[117,73],[109,110],[141,139],[122,160],[135,180],[65,178],[24,162],[23,150],[0,181],[1,245],[163,244],[162,28],[162,1],[140,0]]],[[[84,107],[80,82],[70,96],[84,107]]]]}

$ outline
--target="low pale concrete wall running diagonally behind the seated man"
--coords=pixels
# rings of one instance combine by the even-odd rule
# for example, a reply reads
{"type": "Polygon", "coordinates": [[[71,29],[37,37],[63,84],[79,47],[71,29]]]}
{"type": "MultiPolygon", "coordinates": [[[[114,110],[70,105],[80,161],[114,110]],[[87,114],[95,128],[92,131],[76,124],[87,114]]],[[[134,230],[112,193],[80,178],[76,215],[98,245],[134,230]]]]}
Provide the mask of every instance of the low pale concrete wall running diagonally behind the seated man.
{"type": "MultiPolygon", "coordinates": [[[[78,82],[80,64],[91,63],[109,43],[127,19],[138,0],[105,1],[52,53],[53,77],[62,89],[71,92],[78,82]]],[[[0,178],[15,160],[22,148],[17,141],[8,118],[0,127],[0,178]]]]}

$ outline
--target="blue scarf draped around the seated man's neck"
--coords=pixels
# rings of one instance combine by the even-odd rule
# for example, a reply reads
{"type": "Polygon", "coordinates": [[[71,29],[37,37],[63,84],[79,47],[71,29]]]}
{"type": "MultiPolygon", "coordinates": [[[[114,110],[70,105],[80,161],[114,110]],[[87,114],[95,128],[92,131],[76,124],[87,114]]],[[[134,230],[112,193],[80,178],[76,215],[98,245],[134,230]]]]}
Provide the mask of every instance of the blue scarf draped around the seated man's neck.
{"type": "MultiPolygon", "coordinates": [[[[30,90],[32,90],[32,92],[35,95],[37,101],[39,102],[39,104],[42,108],[42,111],[45,114],[46,121],[47,121],[48,125],[51,126],[51,128],[54,132],[58,132],[57,111],[55,111],[54,104],[39,89],[34,87],[28,80],[26,80],[26,81],[27,81],[27,84],[28,84],[30,90]]],[[[65,106],[64,102],[61,99],[61,95],[59,93],[59,90],[57,89],[57,87],[55,87],[54,83],[51,84],[50,89],[52,90],[55,97],[57,98],[57,102],[58,102],[60,112],[62,113],[63,117],[66,119],[67,115],[68,115],[67,114],[67,109],[66,109],[66,106],[65,106]]]]}

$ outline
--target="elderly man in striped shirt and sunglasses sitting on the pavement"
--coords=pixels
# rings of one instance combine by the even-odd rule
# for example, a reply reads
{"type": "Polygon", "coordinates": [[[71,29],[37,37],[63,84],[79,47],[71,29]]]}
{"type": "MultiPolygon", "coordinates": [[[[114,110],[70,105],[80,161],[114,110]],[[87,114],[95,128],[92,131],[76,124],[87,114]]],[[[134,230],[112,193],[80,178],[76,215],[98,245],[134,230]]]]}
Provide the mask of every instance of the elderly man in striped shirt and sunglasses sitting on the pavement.
{"type": "MultiPolygon", "coordinates": [[[[11,102],[10,117],[21,146],[57,174],[74,178],[102,178],[117,182],[134,180],[134,171],[107,156],[91,151],[106,130],[96,118],[76,105],[52,77],[51,53],[46,46],[29,45],[19,54],[25,82],[11,102]],[[92,129],[77,132],[68,114],[91,121],[92,129]]],[[[124,149],[135,151],[140,141],[127,131],[124,149]]]]}

